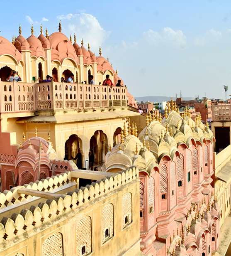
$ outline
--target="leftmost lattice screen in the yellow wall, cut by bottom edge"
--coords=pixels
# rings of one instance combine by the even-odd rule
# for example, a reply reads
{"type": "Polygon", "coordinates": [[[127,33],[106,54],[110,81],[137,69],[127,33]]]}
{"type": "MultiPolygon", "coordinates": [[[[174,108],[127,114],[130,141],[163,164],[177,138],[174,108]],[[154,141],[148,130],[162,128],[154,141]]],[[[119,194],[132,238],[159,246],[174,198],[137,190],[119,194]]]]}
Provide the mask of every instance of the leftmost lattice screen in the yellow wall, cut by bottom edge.
{"type": "Polygon", "coordinates": [[[63,255],[63,237],[61,233],[56,232],[48,237],[42,245],[43,256],[62,256],[63,255]]]}

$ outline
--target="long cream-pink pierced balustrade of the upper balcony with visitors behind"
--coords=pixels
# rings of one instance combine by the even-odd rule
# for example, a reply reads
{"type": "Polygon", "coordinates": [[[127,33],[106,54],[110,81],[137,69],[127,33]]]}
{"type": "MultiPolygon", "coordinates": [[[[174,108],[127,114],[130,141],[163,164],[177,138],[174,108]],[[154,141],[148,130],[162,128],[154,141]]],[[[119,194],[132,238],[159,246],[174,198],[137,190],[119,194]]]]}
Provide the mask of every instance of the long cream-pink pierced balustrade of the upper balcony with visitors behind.
{"type": "Polygon", "coordinates": [[[126,106],[126,86],[0,81],[1,113],[126,106]]]}

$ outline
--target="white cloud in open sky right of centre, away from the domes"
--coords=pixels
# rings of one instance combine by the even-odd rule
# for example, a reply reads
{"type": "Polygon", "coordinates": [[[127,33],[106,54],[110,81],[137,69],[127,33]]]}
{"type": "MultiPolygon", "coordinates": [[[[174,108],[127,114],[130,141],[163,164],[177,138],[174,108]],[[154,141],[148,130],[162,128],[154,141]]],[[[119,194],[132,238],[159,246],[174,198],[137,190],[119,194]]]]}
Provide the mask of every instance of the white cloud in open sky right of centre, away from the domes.
{"type": "Polygon", "coordinates": [[[144,36],[149,37],[154,44],[170,42],[180,48],[187,47],[186,37],[182,30],[173,30],[170,27],[164,27],[160,33],[153,30],[148,30],[147,32],[143,32],[143,34],[144,36]]]}

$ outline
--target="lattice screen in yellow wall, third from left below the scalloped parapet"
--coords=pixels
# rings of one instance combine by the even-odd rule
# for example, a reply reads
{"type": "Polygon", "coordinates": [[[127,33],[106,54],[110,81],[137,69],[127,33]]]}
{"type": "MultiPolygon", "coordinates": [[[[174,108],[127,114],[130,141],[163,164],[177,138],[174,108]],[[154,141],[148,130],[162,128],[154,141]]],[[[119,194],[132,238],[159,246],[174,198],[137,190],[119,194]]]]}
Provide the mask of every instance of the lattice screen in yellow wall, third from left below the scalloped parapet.
{"type": "Polygon", "coordinates": [[[102,241],[106,240],[105,230],[109,229],[109,237],[114,235],[113,229],[114,214],[113,214],[113,204],[107,204],[102,211],[102,241]]]}

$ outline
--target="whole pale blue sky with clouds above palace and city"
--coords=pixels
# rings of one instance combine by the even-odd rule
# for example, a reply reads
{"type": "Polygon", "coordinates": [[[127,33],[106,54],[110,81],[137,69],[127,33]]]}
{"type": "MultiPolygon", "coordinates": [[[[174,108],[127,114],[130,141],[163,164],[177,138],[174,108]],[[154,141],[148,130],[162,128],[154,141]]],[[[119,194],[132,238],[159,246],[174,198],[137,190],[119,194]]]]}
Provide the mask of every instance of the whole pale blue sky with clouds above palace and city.
{"type": "Polygon", "coordinates": [[[138,96],[224,98],[231,94],[231,1],[1,1],[1,36],[10,41],[49,34],[74,33],[118,69],[129,92],[138,96]],[[5,10],[5,11],[4,11],[5,10]],[[32,11],[33,10],[33,11],[32,11]]]}

